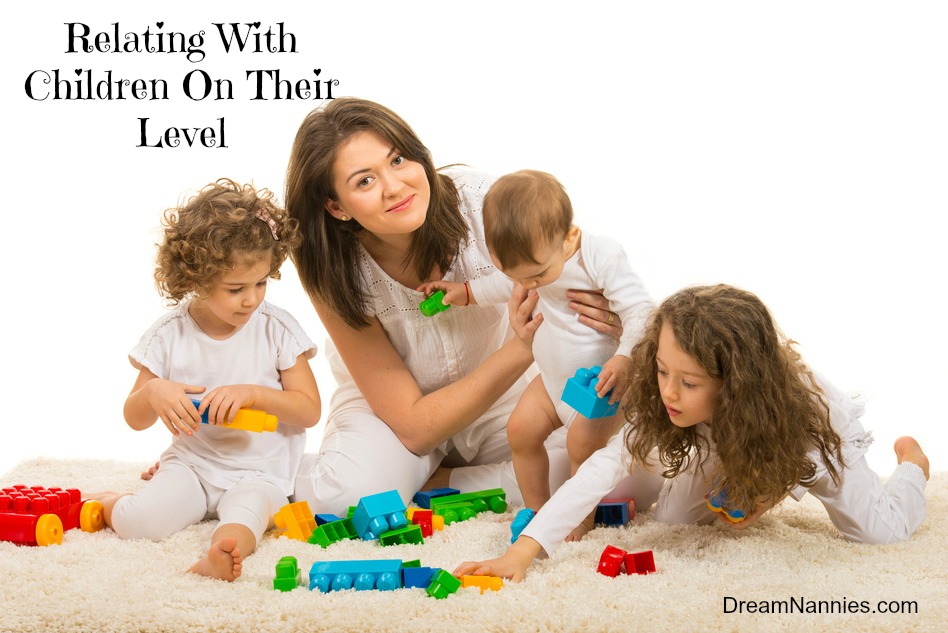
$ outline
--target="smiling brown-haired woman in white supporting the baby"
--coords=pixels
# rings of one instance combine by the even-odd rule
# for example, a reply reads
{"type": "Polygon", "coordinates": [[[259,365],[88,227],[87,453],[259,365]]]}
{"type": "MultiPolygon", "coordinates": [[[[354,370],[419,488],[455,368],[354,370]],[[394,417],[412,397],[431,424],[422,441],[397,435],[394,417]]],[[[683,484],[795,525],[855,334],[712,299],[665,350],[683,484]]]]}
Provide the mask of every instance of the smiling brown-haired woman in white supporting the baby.
{"type": "MultiPolygon", "coordinates": [[[[476,288],[495,271],[481,201],[492,179],[437,172],[412,129],[354,98],[311,112],[287,170],[286,206],[300,223],[293,253],[322,320],[338,382],[318,455],[304,458],[296,500],[340,513],[359,498],[430,486],[501,487],[522,503],[505,425],[530,376],[542,315],[517,288],[503,306],[454,306],[425,317],[426,281],[476,288]],[[530,373],[530,372],[527,372],[530,373]],[[442,467],[440,468],[439,467],[442,467]]],[[[576,294],[580,319],[618,336],[600,295],[576,294]]],[[[551,489],[568,476],[562,437],[549,445],[551,489]]]]}

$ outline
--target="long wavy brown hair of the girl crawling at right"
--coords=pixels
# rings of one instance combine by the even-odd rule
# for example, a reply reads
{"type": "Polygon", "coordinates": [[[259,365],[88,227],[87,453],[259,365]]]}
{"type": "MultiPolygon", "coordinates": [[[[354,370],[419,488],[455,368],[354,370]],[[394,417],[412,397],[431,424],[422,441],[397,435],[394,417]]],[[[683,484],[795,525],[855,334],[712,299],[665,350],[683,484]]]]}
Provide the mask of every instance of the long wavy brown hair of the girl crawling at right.
{"type": "Polygon", "coordinates": [[[695,427],[672,424],[662,402],[655,357],[665,324],[681,349],[722,382],[708,425],[720,459],[710,492],[727,487],[738,508],[775,502],[799,484],[815,483],[816,464],[807,457],[813,447],[839,481],[831,457],[843,467],[841,440],[812,372],[763,302],[727,285],[687,288],[666,299],[633,348],[625,441],[635,461],[646,463],[657,446],[663,475],[674,477],[692,459],[703,465],[710,454],[706,437],[695,427]]]}

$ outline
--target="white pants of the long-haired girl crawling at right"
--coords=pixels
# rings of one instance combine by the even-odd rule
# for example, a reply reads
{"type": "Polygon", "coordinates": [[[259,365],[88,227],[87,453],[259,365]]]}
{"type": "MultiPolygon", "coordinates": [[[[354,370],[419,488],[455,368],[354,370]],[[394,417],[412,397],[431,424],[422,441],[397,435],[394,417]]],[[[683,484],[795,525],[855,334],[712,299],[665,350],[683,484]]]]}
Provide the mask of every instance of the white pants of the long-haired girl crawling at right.
{"type": "MultiPolygon", "coordinates": [[[[705,503],[711,490],[712,460],[703,469],[692,465],[668,480],[658,499],[655,518],[664,523],[711,523],[716,513],[705,503]]],[[[826,508],[843,538],[855,543],[884,544],[908,539],[925,518],[925,475],[915,464],[896,467],[883,484],[864,456],[847,464],[839,484],[828,474],[809,488],[826,508]]]]}

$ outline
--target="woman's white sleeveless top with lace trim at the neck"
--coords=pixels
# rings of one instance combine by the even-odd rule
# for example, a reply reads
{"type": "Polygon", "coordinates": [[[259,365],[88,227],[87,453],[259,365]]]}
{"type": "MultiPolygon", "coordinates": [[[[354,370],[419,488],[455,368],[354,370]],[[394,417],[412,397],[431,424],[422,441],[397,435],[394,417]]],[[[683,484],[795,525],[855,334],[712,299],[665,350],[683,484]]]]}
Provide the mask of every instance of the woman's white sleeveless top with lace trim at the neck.
{"type": "MultiPolygon", "coordinates": [[[[495,270],[487,253],[481,215],[484,194],[493,183],[493,178],[457,167],[444,169],[441,173],[454,179],[461,201],[460,211],[469,228],[467,240],[460,245],[443,279],[460,283],[476,281],[495,270]]],[[[506,304],[452,306],[449,310],[426,317],[418,309],[418,304],[424,301],[425,296],[389,277],[361,247],[359,270],[368,296],[366,315],[376,317],[381,322],[389,341],[423,394],[467,376],[510,336],[506,304]]],[[[334,406],[338,408],[351,400],[364,400],[330,339],[326,341],[326,349],[326,356],[339,385],[333,395],[334,406]]],[[[528,381],[528,375],[522,376],[494,407],[518,398],[528,381]]],[[[504,418],[494,419],[489,424],[484,422],[492,418],[497,416],[488,411],[451,439],[452,446],[464,459],[471,460],[484,438],[506,424],[504,418]]],[[[442,448],[446,448],[447,444],[445,442],[442,448]]]]}

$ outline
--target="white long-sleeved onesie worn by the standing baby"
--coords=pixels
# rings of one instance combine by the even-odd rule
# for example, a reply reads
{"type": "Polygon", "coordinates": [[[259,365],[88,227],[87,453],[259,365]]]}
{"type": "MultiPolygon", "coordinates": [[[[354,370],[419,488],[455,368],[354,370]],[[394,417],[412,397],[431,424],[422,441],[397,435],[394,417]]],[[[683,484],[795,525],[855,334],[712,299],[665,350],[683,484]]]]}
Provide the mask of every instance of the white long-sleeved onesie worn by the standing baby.
{"type": "MultiPolygon", "coordinates": [[[[493,277],[489,285],[472,286],[478,303],[482,298],[484,303],[506,303],[510,298],[510,281],[499,272],[493,277]]],[[[536,311],[543,314],[543,325],[533,339],[533,355],[557,415],[568,425],[576,411],[561,400],[566,380],[579,368],[602,365],[616,355],[628,356],[654,304],[622,246],[608,237],[586,234],[556,281],[537,288],[537,294],[536,311]],[[579,313],[569,307],[566,291],[570,289],[603,291],[609,309],[622,323],[618,342],[579,322],[579,313]]]]}

